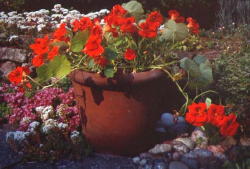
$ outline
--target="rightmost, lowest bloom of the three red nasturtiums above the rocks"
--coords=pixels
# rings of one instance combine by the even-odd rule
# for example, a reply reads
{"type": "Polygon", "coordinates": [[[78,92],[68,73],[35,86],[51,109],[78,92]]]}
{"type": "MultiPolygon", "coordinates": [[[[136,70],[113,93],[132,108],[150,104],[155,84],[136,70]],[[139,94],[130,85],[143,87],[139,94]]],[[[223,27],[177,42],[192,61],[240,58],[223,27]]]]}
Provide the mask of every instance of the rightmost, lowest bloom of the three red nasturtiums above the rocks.
{"type": "Polygon", "coordinates": [[[220,133],[223,136],[233,136],[236,134],[239,126],[239,123],[236,121],[236,115],[231,113],[222,120],[220,133]]]}

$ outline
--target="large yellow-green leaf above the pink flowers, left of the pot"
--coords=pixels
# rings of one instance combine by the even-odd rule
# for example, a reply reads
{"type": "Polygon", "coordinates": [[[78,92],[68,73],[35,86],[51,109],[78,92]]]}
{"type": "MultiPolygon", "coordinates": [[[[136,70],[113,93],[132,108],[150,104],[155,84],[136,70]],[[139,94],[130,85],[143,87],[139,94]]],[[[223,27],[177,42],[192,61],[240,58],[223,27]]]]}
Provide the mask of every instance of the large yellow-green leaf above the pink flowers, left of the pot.
{"type": "Polygon", "coordinates": [[[51,77],[62,78],[69,74],[70,71],[70,62],[64,55],[55,56],[51,62],[44,64],[36,70],[40,82],[45,82],[51,77]]]}

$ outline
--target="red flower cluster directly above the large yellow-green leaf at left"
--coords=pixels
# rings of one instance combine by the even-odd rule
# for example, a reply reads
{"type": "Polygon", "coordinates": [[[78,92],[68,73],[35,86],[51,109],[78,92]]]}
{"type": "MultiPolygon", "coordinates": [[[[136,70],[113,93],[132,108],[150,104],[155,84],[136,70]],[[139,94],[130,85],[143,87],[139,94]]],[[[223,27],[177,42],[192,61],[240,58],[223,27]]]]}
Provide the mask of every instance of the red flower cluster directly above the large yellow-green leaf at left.
{"type": "MultiPolygon", "coordinates": [[[[56,34],[56,36],[57,35],[58,34],[56,34]]],[[[60,37],[57,36],[57,37],[62,38],[62,36],[60,37]]],[[[33,50],[35,54],[35,57],[32,59],[32,64],[35,67],[42,66],[46,60],[52,60],[56,55],[58,55],[59,48],[57,46],[51,46],[50,45],[51,42],[52,41],[46,35],[43,38],[37,38],[35,40],[35,43],[30,45],[30,48],[33,50]]]]}

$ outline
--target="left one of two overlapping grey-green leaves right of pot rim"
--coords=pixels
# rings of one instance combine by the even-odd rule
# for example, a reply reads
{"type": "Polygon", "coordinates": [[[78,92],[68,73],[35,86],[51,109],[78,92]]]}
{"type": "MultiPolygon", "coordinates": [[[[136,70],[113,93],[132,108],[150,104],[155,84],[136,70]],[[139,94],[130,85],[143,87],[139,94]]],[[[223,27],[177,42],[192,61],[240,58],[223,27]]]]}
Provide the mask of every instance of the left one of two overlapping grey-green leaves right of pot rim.
{"type": "Polygon", "coordinates": [[[193,78],[198,78],[201,75],[199,66],[193,60],[187,57],[180,60],[180,66],[189,72],[190,76],[193,78]]]}

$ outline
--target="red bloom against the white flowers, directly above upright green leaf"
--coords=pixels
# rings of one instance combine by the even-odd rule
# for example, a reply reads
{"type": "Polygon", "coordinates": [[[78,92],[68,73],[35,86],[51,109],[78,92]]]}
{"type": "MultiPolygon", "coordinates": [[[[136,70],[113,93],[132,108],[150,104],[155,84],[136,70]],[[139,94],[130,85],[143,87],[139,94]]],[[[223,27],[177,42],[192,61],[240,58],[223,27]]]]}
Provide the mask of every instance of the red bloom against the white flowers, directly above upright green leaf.
{"type": "Polygon", "coordinates": [[[73,31],[77,32],[78,30],[83,31],[92,27],[93,23],[88,17],[83,17],[80,20],[75,20],[73,23],[73,31]]]}

